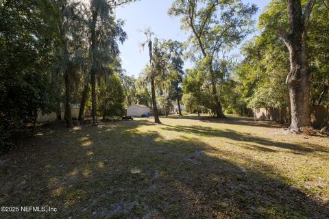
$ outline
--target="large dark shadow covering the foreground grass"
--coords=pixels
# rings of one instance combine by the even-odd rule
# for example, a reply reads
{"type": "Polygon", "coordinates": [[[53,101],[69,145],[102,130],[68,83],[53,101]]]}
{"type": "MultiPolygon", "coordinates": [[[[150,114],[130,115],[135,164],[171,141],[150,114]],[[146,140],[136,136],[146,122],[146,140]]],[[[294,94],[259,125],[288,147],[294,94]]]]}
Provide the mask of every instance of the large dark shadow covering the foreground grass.
{"type": "Polygon", "coordinates": [[[1,205],[49,205],[58,211],[1,212],[0,217],[329,217],[328,206],[285,184],[271,166],[257,164],[272,172],[269,177],[258,168],[210,156],[215,149],[197,138],[167,140],[158,131],[138,131],[152,125],[137,121],[55,130],[51,142],[40,136],[34,149],[1,157],[1,205]]]}

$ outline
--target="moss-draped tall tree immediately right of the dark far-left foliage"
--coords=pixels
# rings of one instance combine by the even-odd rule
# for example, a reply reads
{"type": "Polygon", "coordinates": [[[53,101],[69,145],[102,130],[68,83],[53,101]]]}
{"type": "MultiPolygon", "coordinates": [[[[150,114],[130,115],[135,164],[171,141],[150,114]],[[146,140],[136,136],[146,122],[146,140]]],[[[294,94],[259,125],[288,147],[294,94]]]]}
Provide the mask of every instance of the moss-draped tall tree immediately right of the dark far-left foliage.
{"type": "Polygon", "coordinates": [[[85,7],[79,1],[54,1],[60,12],[60,40],[59,63],[64,79],[64,118],[66,126],[72,127],[71,99],[80,82],[80,73],[86,68],[86,53],[88,51],[86,34],[85,7]]]}

